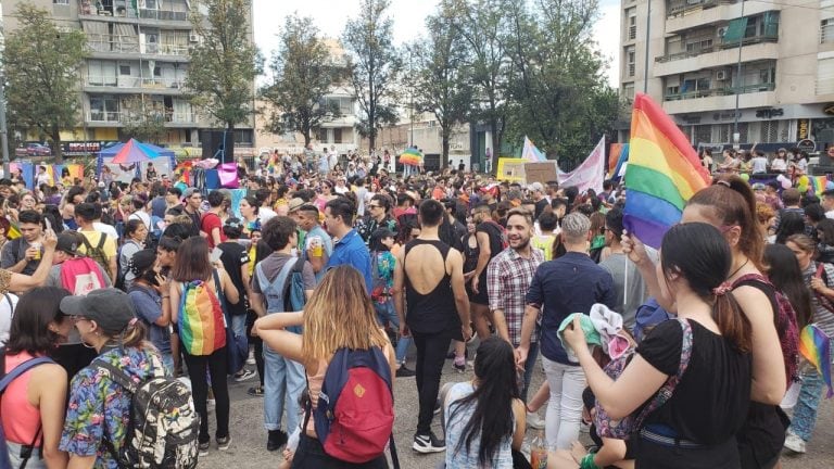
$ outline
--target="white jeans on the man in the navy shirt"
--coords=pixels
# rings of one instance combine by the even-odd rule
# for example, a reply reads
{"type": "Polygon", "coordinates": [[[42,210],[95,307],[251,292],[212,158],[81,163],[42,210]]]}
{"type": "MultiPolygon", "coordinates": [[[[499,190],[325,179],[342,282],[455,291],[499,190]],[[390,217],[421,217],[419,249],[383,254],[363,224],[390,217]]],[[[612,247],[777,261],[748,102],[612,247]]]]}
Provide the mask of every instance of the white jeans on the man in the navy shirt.
{"type": "Polygon", "coordinates": [[[580,366],[552,362],[545,356],[542,356],[542,362],[547,384],[551,385],[544,429],[547,446],[551,451],[570,449],[571,443],[579,438],[585,373],[580,366]]]}

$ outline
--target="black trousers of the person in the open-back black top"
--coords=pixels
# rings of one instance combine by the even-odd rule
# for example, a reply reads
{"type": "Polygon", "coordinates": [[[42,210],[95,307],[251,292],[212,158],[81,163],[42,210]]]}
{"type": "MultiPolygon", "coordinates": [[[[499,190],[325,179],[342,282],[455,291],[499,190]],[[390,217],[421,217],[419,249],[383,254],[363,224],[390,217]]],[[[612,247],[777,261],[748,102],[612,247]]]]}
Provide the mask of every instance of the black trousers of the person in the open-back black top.
{"type": "Polygon", "coordinates": [[[440,375],[446,362],[446,351],[452,343],[448,331],[437,333],[419,333],[412,331],[414,344],[417,346],[417,364],[415,366],[419,411],[417,414],[417,433],[428,434],[431,430],[431,419],[434,417],[434,404],[440,391],[440,375]]]}

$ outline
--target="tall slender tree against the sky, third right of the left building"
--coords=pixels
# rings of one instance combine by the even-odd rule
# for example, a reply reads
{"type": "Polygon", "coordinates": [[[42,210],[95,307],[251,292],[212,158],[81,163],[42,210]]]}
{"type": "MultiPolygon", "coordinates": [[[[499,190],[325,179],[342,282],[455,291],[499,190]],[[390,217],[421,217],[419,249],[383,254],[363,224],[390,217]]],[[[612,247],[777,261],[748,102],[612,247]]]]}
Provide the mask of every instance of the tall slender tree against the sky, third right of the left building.
{"type": "Polygon", "coordinates": [[[359,17],[348,21],[342,37],[362,111],[357,130],[368,139],[369,151],[375,149],[379,129],[396,124],[397,118],[395,86],[402,61],[393,46],[393,21],[383,16],[390,3],[363,0],[359,17]]]}

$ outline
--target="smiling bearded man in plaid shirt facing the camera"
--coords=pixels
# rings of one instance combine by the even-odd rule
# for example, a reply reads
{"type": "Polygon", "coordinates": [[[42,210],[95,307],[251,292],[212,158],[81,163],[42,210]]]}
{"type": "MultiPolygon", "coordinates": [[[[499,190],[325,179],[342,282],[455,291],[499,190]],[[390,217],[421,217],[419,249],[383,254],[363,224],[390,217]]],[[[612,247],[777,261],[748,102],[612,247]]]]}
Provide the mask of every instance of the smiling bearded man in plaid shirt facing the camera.
{"type": "MultiPolygon", "coordinates": [[[[523,208],[507,214],[507,241],[509,248],[502,251],[486,266],[486,291],[490,310],[495,317],[495,329],[513,347],[521,344],[521,319],[525,317],[526,296],[544,254],[530,244],[533,234],[533,216],[523,208]]],[[[530,352],[525,362],[525,382],[521,400],[527,402],[527,389],[533,373],[538,354],[536,331],[532,334],[530,352]]]]}

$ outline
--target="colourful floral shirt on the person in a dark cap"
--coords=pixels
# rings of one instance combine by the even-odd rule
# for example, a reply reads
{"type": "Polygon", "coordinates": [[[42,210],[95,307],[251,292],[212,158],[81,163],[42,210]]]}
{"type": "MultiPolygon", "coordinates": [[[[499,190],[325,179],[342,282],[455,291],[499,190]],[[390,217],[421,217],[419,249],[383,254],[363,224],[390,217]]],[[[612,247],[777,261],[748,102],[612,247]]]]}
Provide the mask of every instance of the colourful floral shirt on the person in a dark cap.
{"type": "MultiPolygon", "coordinates": [[[[109,362],[134,380],[144,380],[154,376],[150,354],[155,353],[152,348],[108,348],[73,378],[59,445],[61,451],[71,455],[97,456],[93,468],[117,468],[104,444],[104,431],[106,439],[119,451],[130,416],[130,394],[100,370],[96,362],[109,362]]],[[[161,363],[159,356],[155,362],[161,363]]]]}

